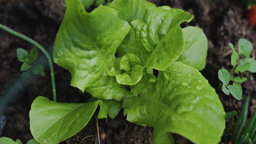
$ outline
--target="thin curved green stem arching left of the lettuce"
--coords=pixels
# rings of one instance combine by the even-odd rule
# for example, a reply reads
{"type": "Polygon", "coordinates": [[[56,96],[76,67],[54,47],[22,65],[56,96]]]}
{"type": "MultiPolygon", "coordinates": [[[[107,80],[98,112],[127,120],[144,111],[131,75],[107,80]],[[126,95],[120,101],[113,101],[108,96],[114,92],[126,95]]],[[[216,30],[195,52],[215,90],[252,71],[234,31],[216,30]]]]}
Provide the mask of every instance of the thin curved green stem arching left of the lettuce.
{"type": "Polygon", "coordinates": [[[13,34],[16,37],[19,37],[21,39],[26,40],[28,43],[31,43],[31,44],[37,46],[38,49],[40,49],[44,53],[44,55],[48,59],[48,63],[49,63],[49,67],[50,67],[51,83],[52,83],[52,86],[53,86],[53,99],[54,99],[54,101],[56,101],[57,97],[56,97],[53,61],[51,60],[51,57],[50,57],[49,53],[44,49],[43,46],[41,46],[40,44],[38,44],[36,41],[32,40],[31,38],[28,38],[26,35],[23,35],[21,33],[15,32],[12,29],[10,29],[10,28],[8,28],[8,27],[6,27],[4,25],[1,25],[1,24],[0,24],[0,29],[3,29],[4,31],[6,31],[6,32],[8,32],[10,34],[13,34]]]}

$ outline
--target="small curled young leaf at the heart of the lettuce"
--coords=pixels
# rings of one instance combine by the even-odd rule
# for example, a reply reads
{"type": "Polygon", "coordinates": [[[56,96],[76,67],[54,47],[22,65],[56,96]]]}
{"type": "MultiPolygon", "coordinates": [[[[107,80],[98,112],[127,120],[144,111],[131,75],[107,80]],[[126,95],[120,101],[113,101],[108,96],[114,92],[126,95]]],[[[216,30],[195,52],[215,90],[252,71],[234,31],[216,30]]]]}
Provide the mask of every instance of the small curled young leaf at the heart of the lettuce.
{"type": "Polygon", "coordinates": [[[135,85],[143,76],[143,68],[137,56],[127,53],[121,58],[118,67],[111,68],[108,74],[115,76],[121,85],[135,85]]]}

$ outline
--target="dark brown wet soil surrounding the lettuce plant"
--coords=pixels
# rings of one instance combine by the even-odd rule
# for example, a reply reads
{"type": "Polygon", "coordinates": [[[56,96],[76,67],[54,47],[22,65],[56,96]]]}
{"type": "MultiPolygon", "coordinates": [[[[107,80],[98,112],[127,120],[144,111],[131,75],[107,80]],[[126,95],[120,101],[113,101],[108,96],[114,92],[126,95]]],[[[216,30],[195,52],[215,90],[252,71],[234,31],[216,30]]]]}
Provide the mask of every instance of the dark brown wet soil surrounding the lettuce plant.
{"type": "MultiPolygon", "coordinates": [[[[203,29],[208,38],[207,65],[202,74],[216,89],[226,112],[240,111],[242,101],[224,95],[219,89],[218,70],[230,69],[231,50],[228,43],[237,46],[240,38],[253,42],[252,57],[256,56],[256,27],[247,21],[246,6],[240,0],[151,0],[156,5],[170,5],[181,8],[195,16],[190,23],[182,26],[197,26],[203,29]],[[210,2],[210,3],[209,3],[210,2]]],[[[64,0],[0,0],[0,23],[38,41],[45,48],[51,47],[65,13],[64,0]]],[[[0,31],[0,94],[13,85],[20,75],[21,63],[16,57],[16,49],[21,47],[31,50],[26,41],[0,31]]],[[[55,67],[58,101],[83,103],[86,97],[77,88],[71,87],[71,75],[58,65],[55,67]]],[[[245,74],[249,78],[249,75],[245,74]]],[[[256,108],[256,75],[253,80],[242,84],[244,95],[251,95],[249,116],[256,108]]],[[[15,91],[15,89],[14,89],[15,91]]],[[[34,98],[38,95],[52,98],[49,70],[46,76],[36,77],[28,82],[22,91],[16,94],[12,103],[5,110],[7,123],[2,136],[26,142],[32,139],[29,129],[28,112],[34,98]]],[[[0,96],[1,97],[1,96],[0,96]]],[[[68,125],[67,125],[68,127],[68,125]]],[[[72,127],[72,125],[71,125],[72,127]]],[[[114,119],[99,119],[93,116],[89,124],[77,135],[62,143],[98,143],[97,130],[101,143],[152,143],[153,129],[129,123],[122,112],[114,119]],[[96,127],[98,123],[98,129],[96,127]]],[[[191,143],[183,137],[174,135],[176,143],[191,143]]]]}

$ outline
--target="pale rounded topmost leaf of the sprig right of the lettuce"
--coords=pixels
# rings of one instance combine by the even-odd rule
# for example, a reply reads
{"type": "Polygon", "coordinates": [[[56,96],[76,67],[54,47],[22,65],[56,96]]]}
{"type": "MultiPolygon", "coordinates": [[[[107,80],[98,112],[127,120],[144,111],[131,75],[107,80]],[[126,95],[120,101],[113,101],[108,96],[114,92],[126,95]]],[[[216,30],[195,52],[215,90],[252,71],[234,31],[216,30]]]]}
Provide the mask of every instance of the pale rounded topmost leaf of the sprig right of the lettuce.
{"type": "Polygon", "coordinates": [[[240,39],[238,41],[238,52],[240,55],[250,57],[250,53],[253,49],[252,43],[247,39],[240,39]]]}

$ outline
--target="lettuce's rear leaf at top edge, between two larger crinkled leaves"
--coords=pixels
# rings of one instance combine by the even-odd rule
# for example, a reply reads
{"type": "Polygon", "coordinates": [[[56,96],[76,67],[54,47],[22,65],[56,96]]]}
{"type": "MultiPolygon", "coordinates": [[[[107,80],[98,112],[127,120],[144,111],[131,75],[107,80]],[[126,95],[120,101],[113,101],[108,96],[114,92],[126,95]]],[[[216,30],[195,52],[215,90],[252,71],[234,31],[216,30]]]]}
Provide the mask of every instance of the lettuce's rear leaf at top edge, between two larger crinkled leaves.
{"type": "Polygon", "coordinates": [[[147,8],[155,7],[155,4],[146,0],[114,0],[110,8],[119,12],[119,17],[127,22],[142,19],[147,8]]]}

